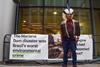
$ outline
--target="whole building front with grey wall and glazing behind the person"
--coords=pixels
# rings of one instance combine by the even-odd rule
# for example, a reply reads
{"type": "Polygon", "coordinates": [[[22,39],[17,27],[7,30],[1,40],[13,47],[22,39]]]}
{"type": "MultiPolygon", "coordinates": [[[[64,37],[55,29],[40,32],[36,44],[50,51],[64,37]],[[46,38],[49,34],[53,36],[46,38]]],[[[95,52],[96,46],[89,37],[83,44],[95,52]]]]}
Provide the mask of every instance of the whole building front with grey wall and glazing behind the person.
{"type": "Polygon", "coordinates": [[[14,0],[16,4],[12,0],[1,1],[4,3],[0,6],[3,9],[0,10],[1,60],[6,34],[59,33],[62,11],[67,8],[67,3],[75,11],[74,18],[80,22],[81,34],[93,36],[94,58],[100,56],[99,0],[14,0]]]}

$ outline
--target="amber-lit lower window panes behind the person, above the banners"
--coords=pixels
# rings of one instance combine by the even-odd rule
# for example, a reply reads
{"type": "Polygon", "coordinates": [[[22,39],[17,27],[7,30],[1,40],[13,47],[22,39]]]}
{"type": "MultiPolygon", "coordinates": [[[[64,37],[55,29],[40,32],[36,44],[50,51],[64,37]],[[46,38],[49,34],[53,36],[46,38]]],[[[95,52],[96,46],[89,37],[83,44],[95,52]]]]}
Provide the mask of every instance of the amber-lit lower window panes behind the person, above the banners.
{"type": "MultiPolygon", "coordinates": [[[[57,33],[62,21],[64,8],[20,8],[19,33],[41,33],[42,27],[45,33],[52,31],[57,33]],[[44,19],[43,19],[44,17],[44,19]],[[44,21],[43,21],[44,20],[44,21]],[[44,25],[42,25],[44,23],[44,25]],[[55,32],[56,31],[56,32],[55,32]]],[[[88,9],[74,9],[74,18],[80,22],[81,34],[91,34],[91,24],[88,9]]],[[[59,32],[59,31],[58,31],[59,32]]]]}

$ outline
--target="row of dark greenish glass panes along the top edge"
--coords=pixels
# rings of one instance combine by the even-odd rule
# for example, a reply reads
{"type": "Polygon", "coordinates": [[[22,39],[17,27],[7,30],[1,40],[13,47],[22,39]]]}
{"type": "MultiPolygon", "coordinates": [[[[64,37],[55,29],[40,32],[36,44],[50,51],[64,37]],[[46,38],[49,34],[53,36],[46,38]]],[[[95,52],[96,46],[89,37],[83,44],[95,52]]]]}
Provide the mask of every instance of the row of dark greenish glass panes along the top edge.
{"type": "MultiPolygon", "coordinates": [[[[68,0],[20,0],[20,3],[23,5],[32,5],[32,6],[43,6],[44,3],[45,6],[66,7],[67,1],[68,0]]],[[[15,2],[17,2],[17,0],[15,0],[15,2]]],[[[71,7],[89,8],[89,0],[69,0],[69,4],[71,7]]]]}

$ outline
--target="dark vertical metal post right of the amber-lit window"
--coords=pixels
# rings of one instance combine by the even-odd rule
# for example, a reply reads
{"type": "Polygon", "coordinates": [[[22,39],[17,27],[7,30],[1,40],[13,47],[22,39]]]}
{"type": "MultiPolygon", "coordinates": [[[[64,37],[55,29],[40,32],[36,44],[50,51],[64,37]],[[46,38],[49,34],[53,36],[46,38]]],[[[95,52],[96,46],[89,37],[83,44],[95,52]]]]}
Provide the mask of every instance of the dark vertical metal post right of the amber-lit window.
{"type": "Polygon", "coordinates": [[[89,0],[90,3],[90,22],[92,26],[92,37],[93,37],[93,58],[96,56],[95,52],[95,34],[96,34],[96,27],[95,27],[95,20],[94,20],[94,8],[93,8],[93,0],[89,0]]]}

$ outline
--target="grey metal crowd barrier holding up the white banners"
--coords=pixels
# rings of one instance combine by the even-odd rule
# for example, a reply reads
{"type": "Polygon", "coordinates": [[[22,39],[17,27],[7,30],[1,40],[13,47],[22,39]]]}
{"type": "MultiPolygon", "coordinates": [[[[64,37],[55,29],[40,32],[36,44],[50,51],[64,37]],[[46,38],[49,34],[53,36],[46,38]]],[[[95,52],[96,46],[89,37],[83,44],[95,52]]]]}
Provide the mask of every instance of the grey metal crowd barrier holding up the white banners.
{"type": "MultiPolygon", "coordinates": [[[[96,35],[95,35],[95,37],[96,37],[96,35]]],[[[12,63],[12,61],[13,61],[13,60],[9,59],[10,40],[11,40],[11,34],[6,34],[5,37],[4,37],[4,42],[3,42],[3,62],[4,63],[12,63]]],[[[95,42],[95,44],[96,43],[100,43],[100,42],[95,42]]],[[[86,61],[85,60],[85,61],[78,61],[78,62],[79,63],[80,62],[82,62],[82,63],[96,63],[98,61],[100,61],[100,57],[99,58],[95,58],[92,61],[88,61],[88,60],[86,61]]],[[[41,60],[41,61],[37,61],[37,60],[34,60],[34,61],[30,61],[30,60],[23,61],[23,60],[21,60],[21,61],[19,61],[19,60],[17,60],[15,62],[27,62],[27,63],[28,62],[30,62],[30,63],[34,63],[35,62],[36,64],[59,63],[58,61],[57,62],[56,61],[50,62],[49,60],[46,60],[46,61],[44,61],[44,60],[41,60]]],[[[62,62],[60,62],[60,63],[62,63],[62,62]]]]}

